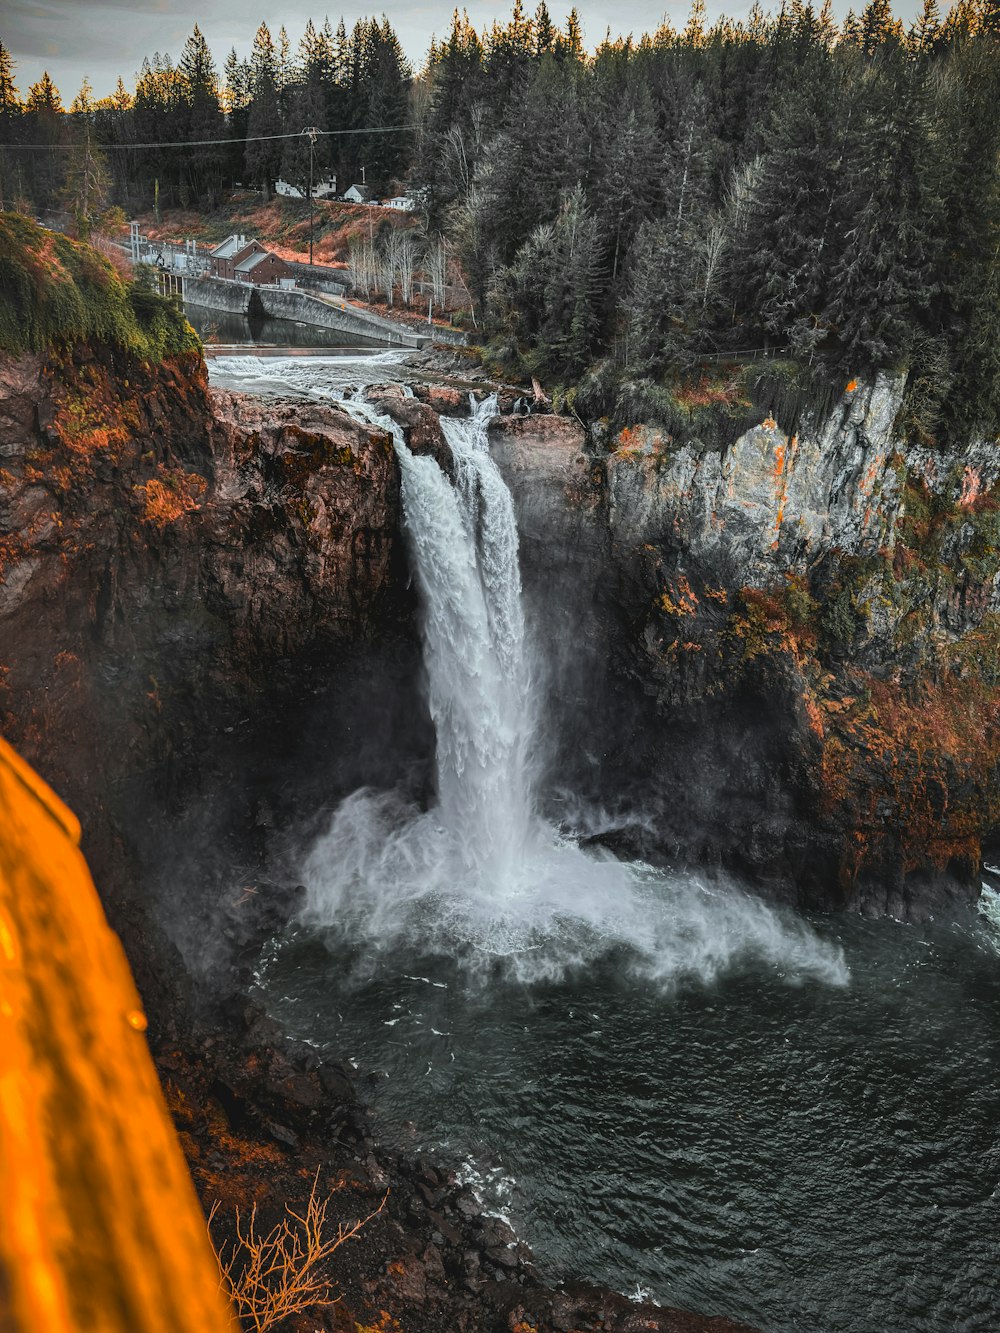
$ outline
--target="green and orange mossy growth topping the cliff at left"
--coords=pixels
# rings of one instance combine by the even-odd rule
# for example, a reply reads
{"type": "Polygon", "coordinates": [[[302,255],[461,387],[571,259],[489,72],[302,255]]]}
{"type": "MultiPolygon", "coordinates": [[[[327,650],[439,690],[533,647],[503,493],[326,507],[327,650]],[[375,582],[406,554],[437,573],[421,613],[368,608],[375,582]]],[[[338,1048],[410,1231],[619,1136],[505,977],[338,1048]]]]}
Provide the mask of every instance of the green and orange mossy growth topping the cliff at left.
{"type": "Polygon", "coordinates": [[[127,283],[89,245],[20,213],[0,213],[0,349],[104,343],[145,361],[200,348],[181,311],[148,277],[127,283]]]}

